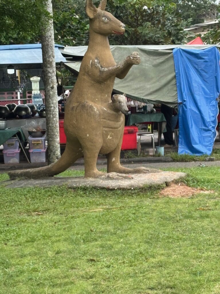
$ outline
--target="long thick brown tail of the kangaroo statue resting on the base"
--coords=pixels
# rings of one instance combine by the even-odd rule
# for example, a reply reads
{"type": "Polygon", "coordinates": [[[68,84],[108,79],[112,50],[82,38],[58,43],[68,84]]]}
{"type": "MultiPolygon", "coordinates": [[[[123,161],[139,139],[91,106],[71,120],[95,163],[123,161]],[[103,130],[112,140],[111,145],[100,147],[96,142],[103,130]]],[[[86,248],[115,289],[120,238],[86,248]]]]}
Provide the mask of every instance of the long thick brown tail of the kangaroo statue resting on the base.
{"type": "Polygon", "coordinates": [[[44,178],[52,177],[65,171],[70,167],[78,158],[82,156],[81,148],[78,148],[79,144],[71,146],[67,143],[66,148],[60,159],[49,166],[40,168],[31,168],[19,171],[9,171],[10,179],[15,178],[44,178]],[[76,148],[77,147],[77,148],[76,148]]]}

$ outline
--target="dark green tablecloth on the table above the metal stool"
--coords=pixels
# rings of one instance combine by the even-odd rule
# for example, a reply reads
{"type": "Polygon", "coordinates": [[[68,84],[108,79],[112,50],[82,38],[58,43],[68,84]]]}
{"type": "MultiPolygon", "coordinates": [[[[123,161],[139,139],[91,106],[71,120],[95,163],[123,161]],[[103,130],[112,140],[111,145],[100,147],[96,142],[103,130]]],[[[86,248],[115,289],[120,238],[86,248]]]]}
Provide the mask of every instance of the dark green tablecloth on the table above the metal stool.
{"type": "Polygon", "coordinates": [[[145,123],[145,122],[161,122],[162,123],[162,132],[166,131],[166,119],[163,113],[157,112],[157,113],[132,113],[132,114],[126,114],[128,116],[128,120],[126,125],[131,126],[133,123],[145,123]]]}

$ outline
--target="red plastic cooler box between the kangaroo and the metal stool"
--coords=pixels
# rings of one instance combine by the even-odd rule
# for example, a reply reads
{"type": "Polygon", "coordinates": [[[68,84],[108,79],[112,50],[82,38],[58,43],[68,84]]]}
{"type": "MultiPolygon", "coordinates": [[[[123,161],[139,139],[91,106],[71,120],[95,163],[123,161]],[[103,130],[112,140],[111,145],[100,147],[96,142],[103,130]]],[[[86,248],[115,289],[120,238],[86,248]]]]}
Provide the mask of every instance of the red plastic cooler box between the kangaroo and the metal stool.
{"type": "Polygon", "coordinates": [[[125,126],[121,150],[137,149],[137,132],[135,126],[125,126]]]}

